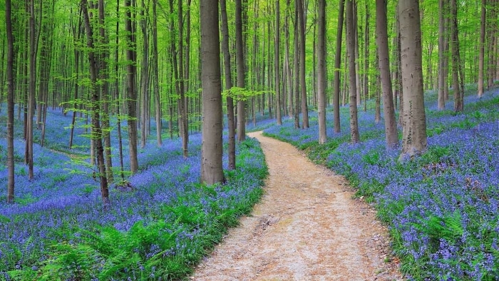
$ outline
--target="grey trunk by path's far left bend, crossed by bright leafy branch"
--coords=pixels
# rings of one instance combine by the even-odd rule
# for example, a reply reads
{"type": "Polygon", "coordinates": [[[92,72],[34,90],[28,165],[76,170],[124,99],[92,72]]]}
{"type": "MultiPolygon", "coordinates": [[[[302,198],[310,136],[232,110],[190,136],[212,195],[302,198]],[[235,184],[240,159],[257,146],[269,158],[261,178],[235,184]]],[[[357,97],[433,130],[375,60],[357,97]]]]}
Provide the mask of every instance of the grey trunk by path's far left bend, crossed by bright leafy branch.
{"type": "MultiPolygon", "coordinates": [[[[236,68],[237,88],[245,88],[245,46],[242,44],[242,4],[236,0],[236,68]]],[[[246,116],[245,101],[240,97],[237,101],[237,141],[245,141],[246,116]]]]}

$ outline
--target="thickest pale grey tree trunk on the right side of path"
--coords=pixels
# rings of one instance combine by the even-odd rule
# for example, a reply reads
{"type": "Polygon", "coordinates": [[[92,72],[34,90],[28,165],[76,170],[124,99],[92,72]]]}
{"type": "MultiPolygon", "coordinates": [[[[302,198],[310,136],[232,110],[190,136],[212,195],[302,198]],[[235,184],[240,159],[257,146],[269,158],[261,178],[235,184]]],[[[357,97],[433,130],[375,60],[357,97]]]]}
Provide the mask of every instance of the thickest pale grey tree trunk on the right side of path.
{"type": "Polygon", "coordinates": [[[398,16],[403,86],[403,141],[400,157],[404,160],[421,155],[426,150],[419,1],[399,1],[398,16]]]}

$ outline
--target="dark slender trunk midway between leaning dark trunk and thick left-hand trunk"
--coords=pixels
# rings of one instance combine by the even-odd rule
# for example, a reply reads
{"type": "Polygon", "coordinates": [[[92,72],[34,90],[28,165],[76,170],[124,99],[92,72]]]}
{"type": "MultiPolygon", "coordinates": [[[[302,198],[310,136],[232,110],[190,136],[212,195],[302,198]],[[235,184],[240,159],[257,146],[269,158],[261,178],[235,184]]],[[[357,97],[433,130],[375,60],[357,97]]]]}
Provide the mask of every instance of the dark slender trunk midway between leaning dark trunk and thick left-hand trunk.
{"type": "Polygon", "coordinates": [[[136,52],[137,44],[135,43],[135,30],[132,29],[132,11],[131,0],[125,0],[125,31],[128,48],[126,58],[127,66],[127,106],[128,106],[128,138],[130,151],[130,171],[132,174],[137,173],[137,91],[135,87],[135,75],[137,62],[136,52]]]}

